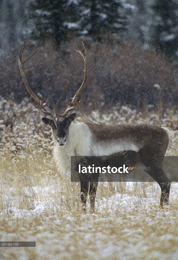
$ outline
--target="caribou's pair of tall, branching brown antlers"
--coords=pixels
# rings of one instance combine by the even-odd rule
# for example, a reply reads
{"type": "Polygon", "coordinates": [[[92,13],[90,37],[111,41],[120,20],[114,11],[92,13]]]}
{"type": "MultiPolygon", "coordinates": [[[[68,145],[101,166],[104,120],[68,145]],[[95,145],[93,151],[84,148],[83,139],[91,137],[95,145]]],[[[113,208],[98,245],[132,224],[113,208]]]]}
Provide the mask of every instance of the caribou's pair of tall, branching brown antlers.
{"type": "MultiPolygon", "coordinates": [[[[84,37],[85,38],[85,37],[84,37]]],[[[31,98],[30,98],[30,102],[31,104],[33,104],[34,107],[38,108],[40,111],[42,111],[44,114],[47,114],[47,115],[50,115],[52,118],[54,118],[54,122],[55,122],[55,125],[57,126],[57,120],[60,118],[60,117],[63,117],[63,118],[66,118],[66,115],[73,109],[75,109],[81,102],[82,102],[82,90],[84,89],[85,87],[85,84],[87,82],[87,77],[88,77],[88,67],[87,67],[87,51],[88,51],[88,40],[85,38],[85,41],[86,41],[86,46],[85,46],[85,43],[84,41],[82,40],[81,38],[81,41],[78,41],[79,43],[82,43],[83,47],[84,47],[84,51],[77,51],[78,53],[80,53],[80,55],[82,56],[82,58],[84,59],[84,63],[85,63],[85,75],[84,75],[84,79],[83,79],[83,82],[82,82],[82,85],[81,87],[79,88],[79,90],[77,91],[77,93],[75,93],[74,97],[72,98],[72,101],[69,103],[67,101],[67,104],[68,104],[68,107],[67,109],[65,110],[65,112],[63,114],[59,114],[58,111],[57,111],[57,104],[58,102],[56,103],[56,106],[55,106],[55,115],[52,113],[52,111],[47,107],[47,104],[48,104],[48,99],[45,103],[43,103],[45,101],[45,99],[43,101],[41,101],[39,98],[37,98],[37,96],[33,93],[33,91],[30,89],[29,85],[28,85],[28,82],[26,80],[26,77],[25,77],[25,74],[30,72],[30,71],[33,71],[37,66],[38,66],[38,62],[35,66],[31,67],[31,68],[28,68],[26,69],[25,71],[23,71],[22,69],[22,65],[27,62],[35,53],[36,51],[34,51],[28,58],[26,58],[25,60],[22,61],[22,55],[23,55],[23,51],[24,49],[30,44],[26,44],[24,43],[23,47],[20,49],[20,54],[19,54],[19,69],[20,69],[20,73],[22,75],[22,78],[23,78],[23,82],[26,86],[26,89],[28,91],[28,93],[31,95],[31,98]],[[80,98],[80,101],[79,101],[79,96],[81,95],[81,98],[80,98]],[[32,100],[33,99],[33,100],[32,100]],[[37,102],[37,105],[35,103],[35,101],[37,102]],[[45,109],[45,110],[43,110],[45,109]]]]}

